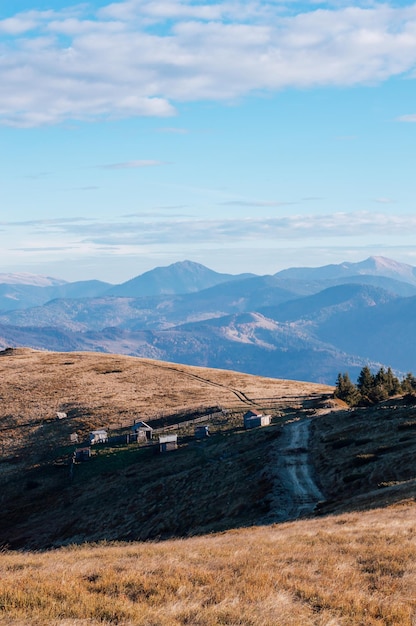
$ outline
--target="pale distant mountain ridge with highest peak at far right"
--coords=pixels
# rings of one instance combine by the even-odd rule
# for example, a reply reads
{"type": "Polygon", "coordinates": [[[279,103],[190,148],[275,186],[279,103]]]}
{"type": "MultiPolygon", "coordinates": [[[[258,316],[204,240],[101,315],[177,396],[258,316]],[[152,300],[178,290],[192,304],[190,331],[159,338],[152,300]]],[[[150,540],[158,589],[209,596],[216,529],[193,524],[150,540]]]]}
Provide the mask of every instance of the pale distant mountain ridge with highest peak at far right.
{"type": "Polygon", "coordinates": [[[381,256],[372,256],[359,263],[340,263],[322,267],[292,267],[275,276],[291,280],[333,280],[347,279],[349,276],[384,276],[416,285],[416,268],[406,263],[398,263],[381,256]]]}

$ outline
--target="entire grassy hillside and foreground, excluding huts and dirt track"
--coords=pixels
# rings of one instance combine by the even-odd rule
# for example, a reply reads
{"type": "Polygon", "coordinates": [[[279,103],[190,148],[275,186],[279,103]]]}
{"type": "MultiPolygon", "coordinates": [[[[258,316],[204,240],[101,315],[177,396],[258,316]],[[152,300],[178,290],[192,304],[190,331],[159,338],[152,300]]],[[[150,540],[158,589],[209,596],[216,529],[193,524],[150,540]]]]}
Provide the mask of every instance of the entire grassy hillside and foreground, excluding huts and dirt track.
{"type": "Polygon", "coordinates": [[[26,349],[1,354],[0,385],[1,624],[416,626],[414,405],[326,410],[325,386],[26,349]],[[68,481],[71,432],[214,406],[202,445],[103,447],[68,481]],[[248,408],[272,425],[245,432],[248,408]],[[299,417],[326,500],[264,525],[270,450],[299,417]]]}

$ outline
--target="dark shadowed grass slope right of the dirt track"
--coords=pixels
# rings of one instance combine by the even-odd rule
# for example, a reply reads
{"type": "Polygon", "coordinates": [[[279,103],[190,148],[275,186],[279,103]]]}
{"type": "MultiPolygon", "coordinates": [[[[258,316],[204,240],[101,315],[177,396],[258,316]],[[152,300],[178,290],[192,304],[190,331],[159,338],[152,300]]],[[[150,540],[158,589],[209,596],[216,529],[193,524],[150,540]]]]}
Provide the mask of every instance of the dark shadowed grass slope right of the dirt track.
{"type": "Polygon", "coordinates": [[[404,398],[321,416],[310,449],[325,512],[416,498],[416,406],[404,398]]]}

